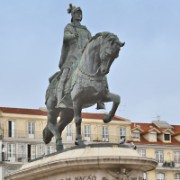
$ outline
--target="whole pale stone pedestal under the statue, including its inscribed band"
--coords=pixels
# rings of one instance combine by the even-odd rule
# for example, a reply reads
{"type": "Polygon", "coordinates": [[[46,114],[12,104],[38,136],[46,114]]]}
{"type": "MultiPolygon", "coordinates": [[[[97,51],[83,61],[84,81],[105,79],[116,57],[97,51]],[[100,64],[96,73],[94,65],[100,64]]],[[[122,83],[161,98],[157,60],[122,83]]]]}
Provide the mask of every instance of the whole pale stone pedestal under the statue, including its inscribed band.
{"type": "Polygon", "coordinates": [[[92,144],[27,163],[5,180],[142,180],[156,165],[129,147],[92,144]]]}

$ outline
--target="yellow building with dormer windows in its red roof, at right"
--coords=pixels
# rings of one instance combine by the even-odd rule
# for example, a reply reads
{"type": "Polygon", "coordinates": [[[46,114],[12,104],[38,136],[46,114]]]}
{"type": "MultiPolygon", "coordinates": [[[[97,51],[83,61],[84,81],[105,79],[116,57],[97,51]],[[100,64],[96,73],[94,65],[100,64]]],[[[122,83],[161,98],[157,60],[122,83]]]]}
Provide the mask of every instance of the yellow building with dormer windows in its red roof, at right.
{"type": "Polygon", "coordinates": [[[132,123],[131,134],[139,154],[158,161],[148,180],[180,180],[180,126],[165,121],[132,123]]]}

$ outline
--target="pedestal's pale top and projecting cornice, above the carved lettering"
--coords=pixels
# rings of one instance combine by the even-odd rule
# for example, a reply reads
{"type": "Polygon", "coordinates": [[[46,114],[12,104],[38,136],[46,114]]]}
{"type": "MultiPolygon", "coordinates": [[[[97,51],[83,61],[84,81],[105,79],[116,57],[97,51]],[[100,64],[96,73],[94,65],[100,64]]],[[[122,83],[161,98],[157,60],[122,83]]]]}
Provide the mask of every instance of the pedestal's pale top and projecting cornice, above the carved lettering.
{"type": "Polygon", "coordinates": [[[101,170],[101,169],[133,169],[150,171],[157,162],[150,158],[142,158],[131,148],[90,147],[75,148],[37,161],[27,163],[22,168],[5,177],[6,180],[35,180],[56,174],[101,170]]]}

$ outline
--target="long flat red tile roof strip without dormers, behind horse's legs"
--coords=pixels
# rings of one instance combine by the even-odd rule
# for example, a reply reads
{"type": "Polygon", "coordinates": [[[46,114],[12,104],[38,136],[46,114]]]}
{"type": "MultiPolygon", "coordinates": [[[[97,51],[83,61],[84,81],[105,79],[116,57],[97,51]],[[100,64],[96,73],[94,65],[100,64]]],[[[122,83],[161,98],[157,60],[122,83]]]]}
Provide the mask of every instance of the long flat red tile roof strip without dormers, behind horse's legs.
{"type": "MultiPolygon", "coordinates": [[[[29,115],[47,115],[46,109],[26,109],[26,108],[10,108],[10,107],[0,107],[0,112],[3,113],[13,113],[13,114],[29,114],[29,115]]],[[[100,113],[82,113],[82,118],[86,119],[102,119],[105,114],[100,113]]],[[[128,119],[114,116],[113,120],[117,121],[129,121],[128,119]]]]}

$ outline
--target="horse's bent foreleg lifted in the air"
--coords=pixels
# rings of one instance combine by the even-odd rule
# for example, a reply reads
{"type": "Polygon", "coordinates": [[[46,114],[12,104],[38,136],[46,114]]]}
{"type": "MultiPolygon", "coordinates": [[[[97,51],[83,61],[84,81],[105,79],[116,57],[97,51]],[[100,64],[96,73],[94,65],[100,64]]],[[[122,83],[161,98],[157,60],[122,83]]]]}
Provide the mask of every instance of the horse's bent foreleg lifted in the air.
{"type": "Polygon", "coordinates": [[[104,102],[113,102],[113,106],[111,108],[111,111],[109,112],[109,114],[107,114],[103,117],[104,123],[108,123],[111,121],[112,117],[116,113],[116,110],[120,104],[120,96],[117,94],[108,93],[107,96],[105,98],[103,98],[103,101],[104,102]]]}

